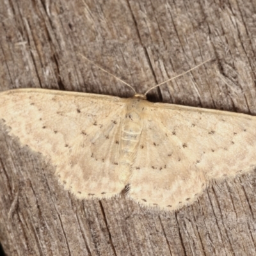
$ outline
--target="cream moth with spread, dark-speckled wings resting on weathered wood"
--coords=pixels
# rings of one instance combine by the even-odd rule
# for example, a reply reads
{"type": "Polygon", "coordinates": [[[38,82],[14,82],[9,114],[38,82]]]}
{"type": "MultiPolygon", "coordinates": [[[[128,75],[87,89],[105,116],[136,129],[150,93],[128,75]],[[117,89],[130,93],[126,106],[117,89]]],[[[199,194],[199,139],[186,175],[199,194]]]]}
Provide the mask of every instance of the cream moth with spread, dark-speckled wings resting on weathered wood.
{"type": "Polygon", "coordinates": [[[256,166],[256,117],[92,93],[0,93],[0,120],[55,166],[76,198],[111,198],[128,186],[141,205],[193,203],[214,180],[256,166]]]}

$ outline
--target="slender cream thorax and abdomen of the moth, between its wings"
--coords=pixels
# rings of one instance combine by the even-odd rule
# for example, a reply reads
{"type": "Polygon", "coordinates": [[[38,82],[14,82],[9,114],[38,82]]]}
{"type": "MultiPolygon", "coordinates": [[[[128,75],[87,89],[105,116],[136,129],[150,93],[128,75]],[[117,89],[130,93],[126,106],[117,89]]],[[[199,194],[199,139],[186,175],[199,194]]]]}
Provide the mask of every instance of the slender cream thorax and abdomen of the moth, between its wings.
{"type": "Polygon", "coordinates": [[[127,107],[124,121],[122,122],[120,144],[120,172],[121,182],[127,182],[131,176],[131,166],[134,163],[136,152],[143,130],[143,118],[141,114],[147,101],[138,97],[127,99],[127,107]]]}

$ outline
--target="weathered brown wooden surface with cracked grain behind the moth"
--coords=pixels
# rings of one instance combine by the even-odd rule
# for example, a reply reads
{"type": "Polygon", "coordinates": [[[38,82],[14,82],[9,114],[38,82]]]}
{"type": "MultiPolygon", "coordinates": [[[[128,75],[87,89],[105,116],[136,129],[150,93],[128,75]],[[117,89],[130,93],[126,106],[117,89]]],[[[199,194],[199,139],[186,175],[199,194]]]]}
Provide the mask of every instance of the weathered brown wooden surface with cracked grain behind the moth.
{"type": "MultiPolygon", "coordinates": [[[[141,93],[212,58],[148,99],[256,115],[255,10],[241,0],[0,0],[0,90],[129,97],[79,53],[141,93]]],[[[218,182],[178,212],[124,195],[79,201],[0,127],[0,241],[6,255],[256,255],[255,182],[254,172],[218,182]]]]}

